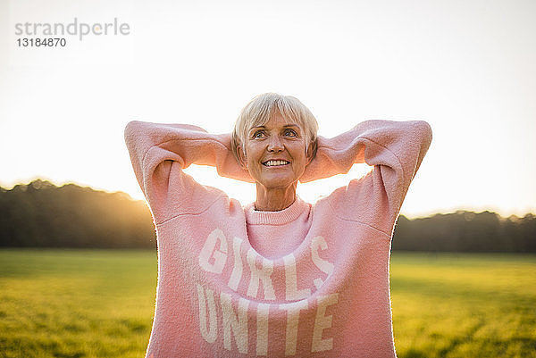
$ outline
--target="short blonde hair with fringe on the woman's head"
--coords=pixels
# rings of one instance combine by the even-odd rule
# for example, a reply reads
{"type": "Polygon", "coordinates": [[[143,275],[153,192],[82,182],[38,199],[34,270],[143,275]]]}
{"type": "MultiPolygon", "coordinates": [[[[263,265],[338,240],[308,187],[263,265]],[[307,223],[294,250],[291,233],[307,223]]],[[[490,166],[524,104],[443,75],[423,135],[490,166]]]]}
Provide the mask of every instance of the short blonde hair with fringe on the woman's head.
{"type": "MultiPolygon", "coordinates": [[[[247,132],[256,126],[264,126],[272,112],[277,110],[283,117],[299,125],[305,131],[306,143],[313,143],[313,157],[316,154],[318,123],[309,109],[296,97],[281,96],[277,93],[264,93],[255,96],[242,109],[231,133],[231,149],[239,161],[238,148],[246,143],[247,132]]],[[[307,147],[306,146],[306,147],[307,147]]]]}

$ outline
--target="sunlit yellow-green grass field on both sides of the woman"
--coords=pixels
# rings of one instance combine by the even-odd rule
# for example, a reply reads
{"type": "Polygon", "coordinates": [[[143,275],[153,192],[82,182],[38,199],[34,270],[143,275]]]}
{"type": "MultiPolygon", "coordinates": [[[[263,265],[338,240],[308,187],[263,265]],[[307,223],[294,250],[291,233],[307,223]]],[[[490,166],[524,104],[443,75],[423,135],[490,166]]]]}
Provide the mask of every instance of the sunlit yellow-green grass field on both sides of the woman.
{"type": "MultiPolygon", "coordinates": [[[[141,357],[156,254],[0,250],[0,357],[141,357]]],[[[391,256],[398,357],[536,357],[536,256],[391,256]]]]}

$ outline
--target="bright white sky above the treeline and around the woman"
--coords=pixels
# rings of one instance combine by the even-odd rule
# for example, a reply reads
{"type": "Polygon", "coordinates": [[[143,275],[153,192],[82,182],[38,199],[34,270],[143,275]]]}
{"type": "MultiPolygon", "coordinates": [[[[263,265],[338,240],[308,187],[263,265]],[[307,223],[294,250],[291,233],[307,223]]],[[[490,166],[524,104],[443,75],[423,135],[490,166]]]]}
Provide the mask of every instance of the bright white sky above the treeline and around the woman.
{"type": "MultiPolygon", "coordinates": [[[[230,132],[252,97],[277,92],[306,104],[324,137],[366,120],[428,121],[406,216],[536,212],[532,0],[0,0],[0,29],[2,187],[40,178],[143,199],[123,141],[129,121],[230,132]],[[77,33],[48,36],[65,46],[19,46],[46,37],[37,23],[77,33]],[[100,35],[80,35],[82,24],[100,35]]],[[[369,170],[298,195],[314,202],[369,170]]],[[[255,200],[253,185],[214,168],[186,171],[255,200]]]]}

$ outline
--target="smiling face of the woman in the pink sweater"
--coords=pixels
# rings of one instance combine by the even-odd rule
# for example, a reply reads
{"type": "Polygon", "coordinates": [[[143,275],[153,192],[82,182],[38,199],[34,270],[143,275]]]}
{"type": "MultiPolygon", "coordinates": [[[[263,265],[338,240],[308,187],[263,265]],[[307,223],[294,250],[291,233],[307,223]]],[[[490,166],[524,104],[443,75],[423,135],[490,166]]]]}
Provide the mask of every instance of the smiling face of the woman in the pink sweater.
{"type": "Polygon", "coordinates": [[[266,190],[296,187],[312,158],[304,129],[278,111],[264,125],[247,131],[244,148],[246,154],[238,150],[240,162],[257,187],[266,190]]]}

